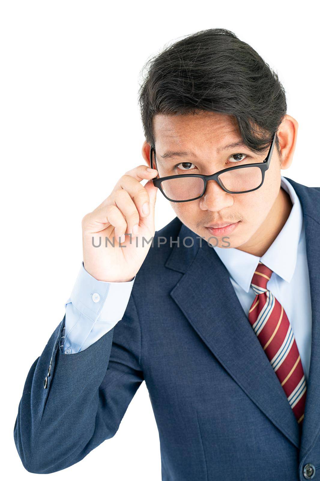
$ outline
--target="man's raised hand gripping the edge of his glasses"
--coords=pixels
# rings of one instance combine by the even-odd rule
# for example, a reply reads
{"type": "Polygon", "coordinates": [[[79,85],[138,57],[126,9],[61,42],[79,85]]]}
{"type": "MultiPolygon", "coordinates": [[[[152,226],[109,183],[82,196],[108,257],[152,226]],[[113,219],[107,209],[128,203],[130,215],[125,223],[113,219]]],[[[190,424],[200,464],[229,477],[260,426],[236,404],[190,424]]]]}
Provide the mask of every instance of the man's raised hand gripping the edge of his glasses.
{"type": "Polygon", "coordinates": [[[149,172],[147,165],[129,170],[120,177],[111,194],[83,217],[84,266],[94,278],[125,282],[131,280],[140,269],[155,234],[154,206],[158,189],[150,179],[156,175],[157,170],[149,172]],[[148,179],[145,186],[140,184],[143,179],[148,179]],[[131,243],[130,236],[124,236],[130,233],[131,243]],[[142,245],[143,237],[150,242],[144,241],[142,245]],[[96,246],[101,238],[101,245],[94,247],[92,238],[96,246]],[[107,247],[106,238],[110,240],[107,241],[107,247]]]}

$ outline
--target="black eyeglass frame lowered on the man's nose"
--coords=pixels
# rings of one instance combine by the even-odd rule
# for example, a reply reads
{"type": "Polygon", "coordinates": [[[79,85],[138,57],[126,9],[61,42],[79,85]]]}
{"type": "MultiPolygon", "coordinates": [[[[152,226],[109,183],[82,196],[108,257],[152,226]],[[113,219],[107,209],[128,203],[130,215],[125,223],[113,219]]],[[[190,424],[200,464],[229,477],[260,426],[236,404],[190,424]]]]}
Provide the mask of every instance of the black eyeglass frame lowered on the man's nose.
{"type": "MultiPolygon", "coordinates": [[[[216,172],[215,174],[211,174],[209,176],[203,176],[202,174],[177,174],[175,176],[166,176],[166,177],[154,177],[152,179],[152,182],[153,182],[153,185],[155,187],[158,187],[158,189],[160,189],[160,191],[162,192],[162,194],[164,195],[164,197],[166,199],[168,199],[168,201],[170,202],[190,202],[190,201],[196,201],[197,199],[200,199],[200,197],[203,196],[203,194],[205,193],[206,191],[206,187],[207,187],[207,182],[208,180],[216,180],[218,182],[218,184],[220,185],[220,187],[225,191],[225,192],[228,192],[229,194],[245,194],[246,192],[252,192],[253,190],[257,190],[261,187],[261,185],[263,184],[263,181],[264,181],[264,175],[266,173],[266,171],[269,169],[269,165],[270,165],[270,161],[271,161],[271,157],[272,157],[272,152],[273,152],[273,147],[274,147],[274,144],[275,144],[275,140],[276,140],[276,133],[275,132],[273,134],[273,138],[272,138],[272,141],[271,141],[271,145],[270,145],[270,149],[269,149],[269,152],[268,152],[268,155],[267,157],[265,158],[265,160],[263,162],[257,162],[255,164],[245,164],[245,165],[235,165],[234,167],[228,167],[227,169],[222,169],[222,170],[219,170],[218,172],[216,172]],[[261,184],[258,186],[258,187],[255,187],[254,189],[250,189],[250,190],[243,190],[241,192],[234,192],[232,190],[228,190],[226,189],[223,185],[222,185],[222,182],[220,182],[219,180],[219,176],[224,173],[224,172],[228,172],[229,170],[235,170],[235,169],[244,169],[246,167],[259,167],[259,169],[261,170],[261,176],[262,176],[262,180],[261,180],[261,184]],[[173,201],[172,199],[169,199],[169,197],[166,196],[166,194],[163,192],[163,189],[161,187],[161,182],[163,182],[164,180],[169,180],[169,179],[174,179],[174,178],[180,178],[180,177],[201,177],[203,179],[203,182],[204,182],[204,188],[203,188],[203,192],[201,195],[199,195],[198,197],[195,197],[194,199],[187,199],[185,201],[173,201]]],[[[153,147],[150,148],[150,167],[153,168],[153,152],[155,154],[155,157],[156,157],[156,149],[154,149],[153,147]]]]}

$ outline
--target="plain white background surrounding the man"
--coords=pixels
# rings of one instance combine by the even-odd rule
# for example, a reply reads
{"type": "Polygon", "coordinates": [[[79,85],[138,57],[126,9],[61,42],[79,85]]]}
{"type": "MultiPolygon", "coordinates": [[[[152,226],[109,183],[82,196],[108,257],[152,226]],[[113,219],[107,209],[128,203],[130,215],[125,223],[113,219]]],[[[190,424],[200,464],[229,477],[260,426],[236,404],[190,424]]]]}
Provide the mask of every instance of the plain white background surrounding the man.
{"type": "MultiPolygon", "coordinates": [[[[233,31],[276,70],[287,113],[299,123],[294,162],[282,175],[319,186],[319,25],[312,8],[308,1],[1,2],[2,473],[37,477],[13,441],[18,404],[81,266],[82,217],[125,171],[144,164],[137,103],[144,63],[199,30],[233,31]]],[[[158,192],[156,229],[173,217],[158,192]]],[[[161,479],[145,383],[111,440],[50,476],[90,475],[161,479]]]]}

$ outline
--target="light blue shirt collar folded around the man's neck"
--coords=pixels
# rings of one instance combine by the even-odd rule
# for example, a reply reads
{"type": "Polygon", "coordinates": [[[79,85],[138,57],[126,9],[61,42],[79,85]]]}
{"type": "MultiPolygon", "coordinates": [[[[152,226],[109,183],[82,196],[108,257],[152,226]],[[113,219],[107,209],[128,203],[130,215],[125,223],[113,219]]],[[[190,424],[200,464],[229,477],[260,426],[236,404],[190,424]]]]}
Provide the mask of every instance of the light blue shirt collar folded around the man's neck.
{"type": "Polygon", "coordinates": [[[230,276],[246,292],[250,289],[259,261],[287,282],[291,281],[295,272],[298,244],[302,234],[303,211],[293,186],[283,176],[281,176],[281,187],[290,195],[293,206],[283,228],[262,257],[236,248],[213,248],[228,269],[230,276]]]}

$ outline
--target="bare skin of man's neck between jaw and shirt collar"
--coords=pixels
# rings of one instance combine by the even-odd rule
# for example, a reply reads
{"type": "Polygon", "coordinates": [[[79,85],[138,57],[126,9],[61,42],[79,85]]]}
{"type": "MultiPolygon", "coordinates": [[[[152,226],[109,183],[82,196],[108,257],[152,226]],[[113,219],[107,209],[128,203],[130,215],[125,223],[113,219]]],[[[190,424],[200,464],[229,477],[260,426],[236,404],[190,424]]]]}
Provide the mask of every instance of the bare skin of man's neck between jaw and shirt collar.
{"type": "Polygon", "coordinates": [[[291,209],[290,195],[281,187],[269,214],[261,226],[249,241],[237,247],[237,249],[261,257],[279,235],[290,215],[291,209]]]}

